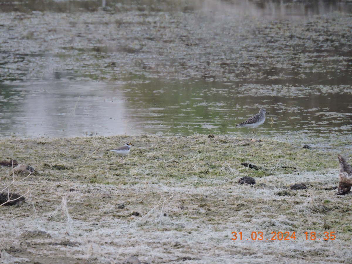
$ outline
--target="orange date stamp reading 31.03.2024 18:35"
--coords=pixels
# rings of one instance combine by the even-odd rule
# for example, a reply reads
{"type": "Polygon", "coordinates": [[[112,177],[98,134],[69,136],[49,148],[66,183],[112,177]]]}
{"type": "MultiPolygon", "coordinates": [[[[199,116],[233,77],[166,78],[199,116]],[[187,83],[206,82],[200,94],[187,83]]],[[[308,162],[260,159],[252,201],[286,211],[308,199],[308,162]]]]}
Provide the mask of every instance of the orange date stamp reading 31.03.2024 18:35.
{"type": "MultiPolygon", "coordinates": [[[[305,235],[303,238],[306,240],[335,240],[336,232],[304,232],[303,235],[305,235]]],[[[271,232],[271,235],[267,238],[265,238],[265,235],[263,232],[252,232],[251,235],[248,236],[248,238],[243,235],[242,232],[235,232],[233,231],[232,233],[232,240],[296,240],[296,232],[276,232],[273,231],[271,232]]]]}

